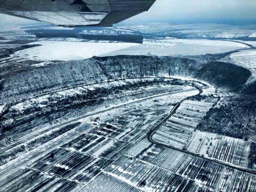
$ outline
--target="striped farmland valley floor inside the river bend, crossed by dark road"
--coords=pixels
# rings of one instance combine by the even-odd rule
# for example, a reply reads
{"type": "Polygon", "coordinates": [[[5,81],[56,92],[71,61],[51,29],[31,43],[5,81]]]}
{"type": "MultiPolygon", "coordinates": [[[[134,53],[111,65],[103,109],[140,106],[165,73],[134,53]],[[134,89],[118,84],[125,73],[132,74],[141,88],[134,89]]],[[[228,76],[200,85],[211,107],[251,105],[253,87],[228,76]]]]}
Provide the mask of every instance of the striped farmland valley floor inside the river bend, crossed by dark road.
{"type": "Polygon", "coordinates": [[[2,165],[0,190],[254,191],[250,142],[195,131],[218,102],[211,89],[199,84],[127,102],[92,114],[113,113],[95,126],[90,117],[73,119],[82,124],[2,165]],[[162,131],[169,134],[161,144],[162,131]]]}

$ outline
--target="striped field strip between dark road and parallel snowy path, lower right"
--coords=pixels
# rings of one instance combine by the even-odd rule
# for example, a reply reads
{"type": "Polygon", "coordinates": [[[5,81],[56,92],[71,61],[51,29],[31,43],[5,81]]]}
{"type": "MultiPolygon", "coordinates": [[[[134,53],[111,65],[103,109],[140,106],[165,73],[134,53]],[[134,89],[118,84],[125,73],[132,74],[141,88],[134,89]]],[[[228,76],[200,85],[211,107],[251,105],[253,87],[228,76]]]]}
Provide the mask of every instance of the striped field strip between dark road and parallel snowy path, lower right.
{"type": "MultiPolygon", "coordinates": [[[[177,150],[164,148],[147,140],[142,140],[135,145],[128,151],[127,156],[133,156],[134,159],[139,161],[169,170],[176,175],[176,178],[178,176],[186,178],[199,186],[203,186],[204,190],[237,191],[239,189],[248,192],[256,190],[255,175],[242,173],[241,171],[201,158],[195,158],[192,155],[177,150]]],[[[126,171],[123,168],[124,164],[114,166],[119,167],[119,169],[121,166],[121,170],[123,172],[126,171]]],[[[190,190],[192,191],[192,188],[190,190]]]]}

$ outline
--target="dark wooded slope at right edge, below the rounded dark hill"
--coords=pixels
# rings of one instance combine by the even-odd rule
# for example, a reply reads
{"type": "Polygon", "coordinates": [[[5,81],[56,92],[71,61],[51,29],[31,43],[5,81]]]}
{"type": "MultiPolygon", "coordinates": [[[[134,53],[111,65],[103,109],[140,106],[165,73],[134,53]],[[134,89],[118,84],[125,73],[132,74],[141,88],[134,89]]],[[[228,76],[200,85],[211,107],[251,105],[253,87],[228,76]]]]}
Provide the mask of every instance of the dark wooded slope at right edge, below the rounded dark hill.
{"type": "Polygon", "coordinates": [[[237,96],[223,98],[197,129],[256,142],[255,85],[246,86],[237,96]]]}

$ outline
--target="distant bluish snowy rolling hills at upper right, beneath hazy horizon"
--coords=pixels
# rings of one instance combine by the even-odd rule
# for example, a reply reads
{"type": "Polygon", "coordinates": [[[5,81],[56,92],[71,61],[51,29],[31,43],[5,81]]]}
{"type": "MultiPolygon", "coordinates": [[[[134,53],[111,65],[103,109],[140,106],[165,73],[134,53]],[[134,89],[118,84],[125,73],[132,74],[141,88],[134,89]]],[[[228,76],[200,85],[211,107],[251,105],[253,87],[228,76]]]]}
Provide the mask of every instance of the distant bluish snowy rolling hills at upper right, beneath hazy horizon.
{"type": "Polygon", "coordinates": [[[255,37],[255,25],[222,25],[213,23],[196,23],[170,25],[169,23],[145,23],[122,27],[144,33],[162,34],[170,37],[186,38],[238,38],[255,37]]]}

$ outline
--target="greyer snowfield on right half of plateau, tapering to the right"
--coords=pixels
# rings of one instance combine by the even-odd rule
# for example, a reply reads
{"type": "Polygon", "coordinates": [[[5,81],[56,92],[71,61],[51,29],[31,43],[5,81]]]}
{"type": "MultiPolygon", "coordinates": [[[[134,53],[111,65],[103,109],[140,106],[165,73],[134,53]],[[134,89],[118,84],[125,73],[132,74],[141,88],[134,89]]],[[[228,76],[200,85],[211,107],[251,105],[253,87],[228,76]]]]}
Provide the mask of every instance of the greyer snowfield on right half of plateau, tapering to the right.
{"type": "Polygon", "coordinates": [[[108,52],[108,55],[200,55],[207,53],[223,53],[247,46],[236,42],[214,41],[206,39],[157,39],[144,41],[129,48],[108,52]]]}

